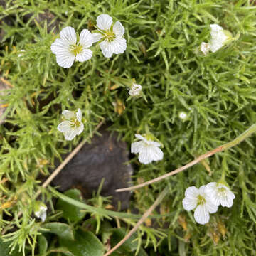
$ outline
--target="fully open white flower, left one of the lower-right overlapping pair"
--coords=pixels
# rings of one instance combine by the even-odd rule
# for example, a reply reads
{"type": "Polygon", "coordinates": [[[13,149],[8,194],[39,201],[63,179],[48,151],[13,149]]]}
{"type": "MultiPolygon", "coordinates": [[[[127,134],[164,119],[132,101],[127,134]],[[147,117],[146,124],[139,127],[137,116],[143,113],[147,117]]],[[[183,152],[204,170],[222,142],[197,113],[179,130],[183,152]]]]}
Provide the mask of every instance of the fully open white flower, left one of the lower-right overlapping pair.
{"type": "Polygon", "coordinates": [[[206,224],[210,220],[209,213],[215,213],[218,206],[212,203],[208,193],[206,193],[206,186],[201,186],[199,189],[191,186],[185,191],[185,198],[182,201],[185,210],[193,210],[194,218],[199,224],[206,224]]]}

